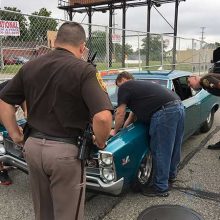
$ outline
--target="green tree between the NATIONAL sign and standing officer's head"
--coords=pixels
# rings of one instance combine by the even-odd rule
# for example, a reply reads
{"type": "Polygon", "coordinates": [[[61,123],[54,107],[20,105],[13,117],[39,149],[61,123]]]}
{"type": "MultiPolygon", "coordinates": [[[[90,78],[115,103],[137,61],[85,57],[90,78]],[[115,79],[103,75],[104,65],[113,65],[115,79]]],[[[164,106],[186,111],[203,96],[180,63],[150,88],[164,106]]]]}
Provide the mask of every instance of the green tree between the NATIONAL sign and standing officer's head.
{"type": "Polygon", "coordinates": [[[34,12],[32,15],[44,16],[48,18],[42,18],[37,16],[30,16],[30,36],[32,40],[47,40],[47,31],[56,31],[58,23],[56,20],[50,18],[51,12],[47,11],[46,8],[41,8],[39,12],[34,12]]]}

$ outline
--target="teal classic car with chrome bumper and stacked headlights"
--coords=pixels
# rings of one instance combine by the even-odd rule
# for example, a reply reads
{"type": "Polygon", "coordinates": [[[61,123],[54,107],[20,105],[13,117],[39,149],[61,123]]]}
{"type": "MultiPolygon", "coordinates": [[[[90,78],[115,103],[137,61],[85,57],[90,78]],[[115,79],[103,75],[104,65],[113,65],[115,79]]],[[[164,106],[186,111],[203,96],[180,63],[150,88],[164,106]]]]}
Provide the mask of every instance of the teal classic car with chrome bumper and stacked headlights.
{"type": "MultiPolygon", "coordinates": [[[[219,108],[220,99],[205,90],[192,90],[187,84],[189,72],[145,71],[133,72],[137,80],[150,80],[176,92],[185,106],[184,140],[196,131],[208,132],[219,108]]],[[[117,106],[116,74],[103,77],[113,105],[117,106]]],[[[22,124],[23,122],[19,121],[22,124]]],[[[114,123],[113,123],[114,127],[114,123]]],[[[134,122],[107,141],[104,150],[92,149],[86,160],[87,188],[119,195],[128,186],[134,189],[149,182],[152,174],[152,156],[149,149],[148,126],[134,122]]],[[[15,145],[2,127],[4,143],[0,145],[0,161],[27,172],[21,148],[15,145]]]]}

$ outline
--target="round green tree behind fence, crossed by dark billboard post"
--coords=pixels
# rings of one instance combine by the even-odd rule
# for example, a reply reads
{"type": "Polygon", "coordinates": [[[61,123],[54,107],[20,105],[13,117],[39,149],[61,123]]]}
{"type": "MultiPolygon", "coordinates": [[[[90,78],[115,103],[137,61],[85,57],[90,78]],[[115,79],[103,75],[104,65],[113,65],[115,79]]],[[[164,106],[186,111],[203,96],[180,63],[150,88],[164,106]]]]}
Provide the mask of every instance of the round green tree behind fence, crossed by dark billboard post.
{"type": "MultiPolygon", "coordinates": [[[[141,54],[146,54],[148,49],[148,39],[145,37],[142,39],[141,54]]],[[[160,60],[161,52],[167,48],[165,41],[163,41],[163,51],[161,51],[161,37],[159,35],[150,36],[150,60],[160,60]]]]}

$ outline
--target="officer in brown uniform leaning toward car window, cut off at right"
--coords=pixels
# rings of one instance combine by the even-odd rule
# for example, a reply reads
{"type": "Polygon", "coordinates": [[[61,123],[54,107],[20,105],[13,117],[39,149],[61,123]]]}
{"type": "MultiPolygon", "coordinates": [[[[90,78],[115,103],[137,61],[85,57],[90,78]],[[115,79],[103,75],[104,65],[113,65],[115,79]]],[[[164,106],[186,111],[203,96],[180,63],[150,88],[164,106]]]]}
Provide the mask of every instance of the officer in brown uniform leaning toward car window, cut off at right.
{"type": "MultiPolygon", "coordinates": [[[[207,92],[215,96],[220,96],[220,74],[209,73],[203,77],[193,75],[188,78],[188,84],[195,90],[205,89],[207,92]]],[[[208,146],[211,150],[220,150],[220,141],[208,146]]]]}

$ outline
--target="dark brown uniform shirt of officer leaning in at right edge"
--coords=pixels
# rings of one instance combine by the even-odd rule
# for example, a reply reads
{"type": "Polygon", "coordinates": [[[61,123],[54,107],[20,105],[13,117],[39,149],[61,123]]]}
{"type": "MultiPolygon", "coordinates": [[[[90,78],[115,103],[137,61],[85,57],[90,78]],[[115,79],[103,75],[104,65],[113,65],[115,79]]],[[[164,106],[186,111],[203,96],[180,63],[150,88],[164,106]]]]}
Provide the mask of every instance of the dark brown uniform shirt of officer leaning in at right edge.
{"type": "Polygon", "coordinates": [[[217,88],[218,83],[220,83],[220,74],[216,73],[206,74],[200,80],[202,88],[215,96],[220,96],[220,89],[217,88]]]}

